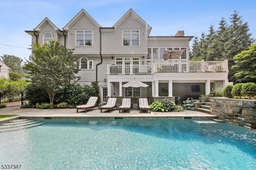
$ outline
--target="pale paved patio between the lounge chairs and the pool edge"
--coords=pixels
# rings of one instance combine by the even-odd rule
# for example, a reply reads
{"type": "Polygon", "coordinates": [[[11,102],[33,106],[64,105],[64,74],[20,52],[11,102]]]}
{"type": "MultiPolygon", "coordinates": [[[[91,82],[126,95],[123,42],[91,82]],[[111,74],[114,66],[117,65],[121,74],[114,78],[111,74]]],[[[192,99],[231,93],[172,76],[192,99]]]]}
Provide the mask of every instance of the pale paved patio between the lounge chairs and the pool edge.
{"type": "MultiPolygon", "coordinates": [[[[113,109],[111,113],[107,110],[98,110],[98,107],[94,109],[87,110],[85,113],[83,110],[78,110],[76,113],[76,109],[32,109],[25,108],[20,109],[20,107],[6,107],[0,109],[0,115],[18,115],[23,118],[42,118],[42,117],[52,117],[52,118],[113,118],[113,117],[193,117],[193,118],[216,118],[214,115],[209,115],[206,113],[198,112],[198,111],[188,111],[184,110],[182,112],[152,112],[142,111],[140,113],[139,110],[131,110],[130,113],[128,111],[121,111],[119,113],[118,110],[113,109]]],[[[1,119],[1,121],[4,119],[1,119]]],[[[6,119],[5,119],[6,120],[6,119]]]]}

